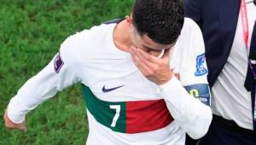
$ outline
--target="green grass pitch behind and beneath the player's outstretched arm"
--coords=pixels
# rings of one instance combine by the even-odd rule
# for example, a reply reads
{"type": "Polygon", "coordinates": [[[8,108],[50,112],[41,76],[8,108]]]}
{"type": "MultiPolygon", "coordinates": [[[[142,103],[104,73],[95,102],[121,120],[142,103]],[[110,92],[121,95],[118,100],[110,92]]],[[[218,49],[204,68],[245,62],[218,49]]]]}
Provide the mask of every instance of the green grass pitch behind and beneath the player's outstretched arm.
{"type": "Polygon", "coordinates": [[[26,133],[4,127],[3,113],[28,78],[53,58],[75,32],[122,18],[133,0],[0,0],[0,145],[84,144],[88,134],[81,85],[76,84],[26,116],[26,133]]]}

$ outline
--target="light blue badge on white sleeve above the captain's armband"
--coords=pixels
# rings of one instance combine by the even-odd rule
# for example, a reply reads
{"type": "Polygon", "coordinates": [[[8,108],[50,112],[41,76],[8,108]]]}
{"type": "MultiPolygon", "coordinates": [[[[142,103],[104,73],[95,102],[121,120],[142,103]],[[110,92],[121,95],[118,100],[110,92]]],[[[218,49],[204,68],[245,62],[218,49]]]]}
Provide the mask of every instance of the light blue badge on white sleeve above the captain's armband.
{"type": "Polygon", "coordinates": [[[205,60],[206,60],[205,54],[198,55],[196,57],[195,76],[202,76],[202,75],[208,73],[207,68],[205,68],[205,66],[204,66],[205,60]]]}

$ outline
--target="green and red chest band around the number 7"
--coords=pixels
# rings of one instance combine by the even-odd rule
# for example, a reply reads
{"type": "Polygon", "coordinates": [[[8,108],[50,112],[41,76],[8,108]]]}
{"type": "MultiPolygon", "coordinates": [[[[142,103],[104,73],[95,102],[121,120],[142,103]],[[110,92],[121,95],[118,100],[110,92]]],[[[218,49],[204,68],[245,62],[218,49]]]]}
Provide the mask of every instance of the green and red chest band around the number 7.
{"type": "Polygon", "coordinates": [[[136,102],[105,102],[98,99],[91,90],[82,86],[85,104],[96,121],[113,131],[122,133],[139,133],[155,131],[169,125],[173,119],[164,100],[136,102]],[[119,106],[119,118],[113,126],[116,109],[119,106]],[[111,126],[112,125],[112,126],[111,126]]]}

